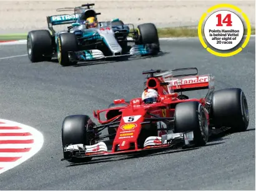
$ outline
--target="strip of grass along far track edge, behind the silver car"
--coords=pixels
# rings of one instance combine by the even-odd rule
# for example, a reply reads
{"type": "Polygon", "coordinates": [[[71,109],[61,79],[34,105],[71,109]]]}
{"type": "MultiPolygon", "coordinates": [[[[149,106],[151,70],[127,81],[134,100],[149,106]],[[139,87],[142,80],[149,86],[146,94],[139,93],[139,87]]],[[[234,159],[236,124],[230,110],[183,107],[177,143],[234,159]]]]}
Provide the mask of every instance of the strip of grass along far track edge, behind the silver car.
{"type": "MultiPolygon", "coordinates": [[[[197,28],[173,27],[157,29],[159,37],[197,37],[197,28]]],[[[245,29],[246,34],[246,29],[245,29]]],[[[252,27],[252,34],[255,34],[255,27],[252,27]]],[[[0,41],[26,39],[27,34],[0,34],[0,41]]]]}

